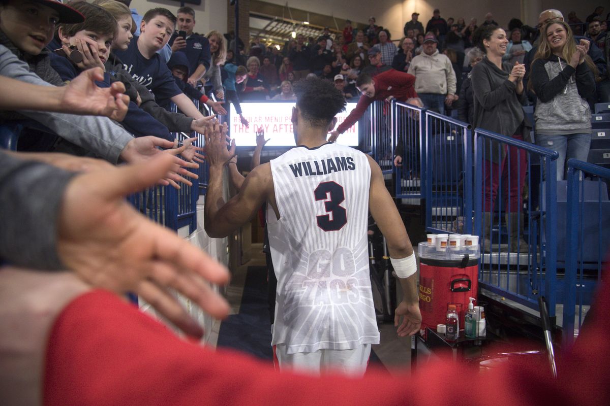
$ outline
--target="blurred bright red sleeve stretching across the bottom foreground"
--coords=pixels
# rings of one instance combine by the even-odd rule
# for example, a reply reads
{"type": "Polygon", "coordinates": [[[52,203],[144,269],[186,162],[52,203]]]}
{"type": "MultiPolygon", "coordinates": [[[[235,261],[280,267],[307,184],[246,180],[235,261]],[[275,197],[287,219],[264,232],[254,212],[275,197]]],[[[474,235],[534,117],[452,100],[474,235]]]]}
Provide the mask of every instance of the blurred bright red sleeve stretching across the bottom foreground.
{"type": "Polygon", "coordinates": [[[176,337],[117,296],[93,291],[60,314],[46,355],[45,405],[608,405],[610,284],[558,364],[507,362],[485,373],[451,360],[417,373],[321,378],[276,373],[236,352],[176,337]]]}

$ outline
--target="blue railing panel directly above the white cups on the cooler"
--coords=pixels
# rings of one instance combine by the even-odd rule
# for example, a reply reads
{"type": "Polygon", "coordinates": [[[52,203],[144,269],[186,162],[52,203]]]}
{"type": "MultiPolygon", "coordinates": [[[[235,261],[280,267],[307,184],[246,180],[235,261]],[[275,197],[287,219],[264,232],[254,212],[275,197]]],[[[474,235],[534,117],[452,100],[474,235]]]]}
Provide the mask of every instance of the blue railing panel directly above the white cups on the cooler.
{"type": "Polygon", "coordinates": [[[426,230],[472,233],[470,124],[425,111],[426,230]]]}

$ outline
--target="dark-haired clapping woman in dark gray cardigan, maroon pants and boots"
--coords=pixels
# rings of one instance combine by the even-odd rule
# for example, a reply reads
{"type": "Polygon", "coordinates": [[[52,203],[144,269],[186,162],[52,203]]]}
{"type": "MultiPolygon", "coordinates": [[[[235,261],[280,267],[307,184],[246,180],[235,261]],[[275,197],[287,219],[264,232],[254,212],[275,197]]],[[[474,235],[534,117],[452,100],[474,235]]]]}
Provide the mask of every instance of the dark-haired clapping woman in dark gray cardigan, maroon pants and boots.
{"type": "MultiPolygon", "coordinates": [[[[481,127],[521,141],[531,141],[531,125],[526,123],[522,108],[522,103],[526,101],[523,92],[525,66],[518,62],[514,66],[502,62],[508,46],[506,32],[493,25],[481,26],[475,31],[473,42],[485,53],[483,60],[472,68],[472,88],[475,96],[473,127],[481,127]]],[[[499,145],[489,139],[486,141],[483,161],[484,250],[490,250],[491,213],[501,183],[504,186],[504,209],[511,241],[509,248],[511,252],[526,253],[528,246],[525,241],[519,239],[522,190],[527,167],[525,151],[517,147],[499,145]]]]}

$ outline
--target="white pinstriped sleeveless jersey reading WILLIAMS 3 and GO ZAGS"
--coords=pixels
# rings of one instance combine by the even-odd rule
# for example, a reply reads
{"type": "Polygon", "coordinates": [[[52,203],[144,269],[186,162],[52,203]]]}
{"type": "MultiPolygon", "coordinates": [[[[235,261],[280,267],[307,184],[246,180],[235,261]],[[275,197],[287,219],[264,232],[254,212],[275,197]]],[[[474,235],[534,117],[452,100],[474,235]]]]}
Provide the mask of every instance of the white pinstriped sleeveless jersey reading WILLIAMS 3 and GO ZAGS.
{"type": "Polygon", "coordinates": [[[368,269],[367,156],[324,144],[271,160],[280,219],[267,229],[278,278],[273,345],[287,352],[379,343],[368,269]]]}

